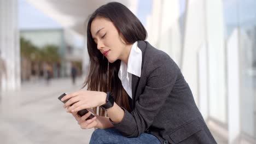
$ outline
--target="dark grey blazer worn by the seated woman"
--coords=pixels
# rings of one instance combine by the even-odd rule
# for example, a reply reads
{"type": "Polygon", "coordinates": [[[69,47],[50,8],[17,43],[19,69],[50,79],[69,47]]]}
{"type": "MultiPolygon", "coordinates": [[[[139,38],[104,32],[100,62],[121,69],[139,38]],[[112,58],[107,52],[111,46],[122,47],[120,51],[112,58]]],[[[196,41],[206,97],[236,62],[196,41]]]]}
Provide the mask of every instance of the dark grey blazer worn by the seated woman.
{"type": "Polygon", "coordinates": [[[126,137],[155,135],[161,143],[216,143],[177,64],[147,41],[138,47],[142,72],[132,75],[132,112],[123,108],[114,127],[126,137]]]}

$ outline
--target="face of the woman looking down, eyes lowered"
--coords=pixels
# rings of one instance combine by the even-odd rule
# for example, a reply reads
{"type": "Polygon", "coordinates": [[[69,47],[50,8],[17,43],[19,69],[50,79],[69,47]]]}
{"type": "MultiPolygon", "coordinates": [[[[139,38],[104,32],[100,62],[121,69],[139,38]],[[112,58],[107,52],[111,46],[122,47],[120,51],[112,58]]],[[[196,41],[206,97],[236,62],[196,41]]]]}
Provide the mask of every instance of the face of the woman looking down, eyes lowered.
{"type": "Polygon", "coordinates": [[[91,23],[91,34],[97,49],[110,63],[123,57],[126,45],[111,21],[96,17],[91,23]]]}

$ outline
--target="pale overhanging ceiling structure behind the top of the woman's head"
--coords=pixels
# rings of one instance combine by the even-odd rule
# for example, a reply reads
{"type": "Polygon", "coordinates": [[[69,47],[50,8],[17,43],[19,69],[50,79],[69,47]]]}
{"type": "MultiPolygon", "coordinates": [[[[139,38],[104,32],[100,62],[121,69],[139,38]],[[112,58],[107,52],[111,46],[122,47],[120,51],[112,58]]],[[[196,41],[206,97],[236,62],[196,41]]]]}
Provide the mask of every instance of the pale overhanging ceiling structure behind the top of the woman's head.
{"type": "MultiPolygon", "coordinates": [[[[93,13],[98,7],[108,2],[109,0],[26,0],[32,4],[35,8],[42,11],[45,15],[51,17],[56,22],[60,23],[64,28],[72,29],[79,35],[85,35],[86,32],[86,20],[89,15],[93,13]]],[[[138,0],[119,0],[127,8],[129,8],[134,14],[136,14],[138,0]]]]}

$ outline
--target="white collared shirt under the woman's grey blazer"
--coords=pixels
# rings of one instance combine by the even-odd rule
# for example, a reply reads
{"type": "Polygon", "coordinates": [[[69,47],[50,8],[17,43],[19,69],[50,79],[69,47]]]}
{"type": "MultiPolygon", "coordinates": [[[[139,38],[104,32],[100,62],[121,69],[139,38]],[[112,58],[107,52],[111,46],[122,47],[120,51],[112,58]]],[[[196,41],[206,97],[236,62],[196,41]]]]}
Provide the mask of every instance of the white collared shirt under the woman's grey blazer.
{"type": "Polygon", "coordinates": [[[132,74],[141,77],[142,51],[137,46],[137,41],[132,45],[127,65],[121,61],[118,77],[122,85],[132,98],[132,74]]]}

